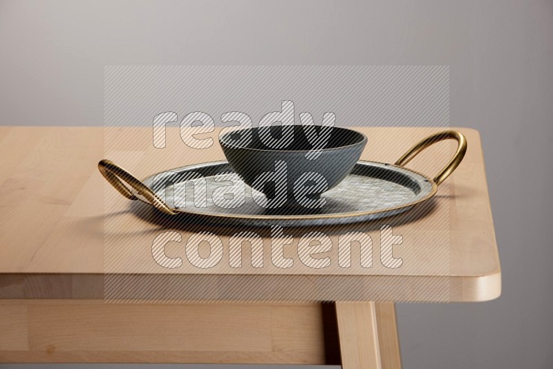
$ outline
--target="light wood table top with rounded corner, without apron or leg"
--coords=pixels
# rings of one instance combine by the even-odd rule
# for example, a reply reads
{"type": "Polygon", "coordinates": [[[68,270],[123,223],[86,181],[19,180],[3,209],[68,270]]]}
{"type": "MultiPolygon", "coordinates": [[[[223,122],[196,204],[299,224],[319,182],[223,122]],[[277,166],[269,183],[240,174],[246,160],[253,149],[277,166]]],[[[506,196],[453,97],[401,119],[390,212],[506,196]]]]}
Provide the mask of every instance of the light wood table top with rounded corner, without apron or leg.
{"type": "MultiPolygon", "coordinates": [[[[441,131],[357,129],[368,135],[361,159],[378,162],[395,162],[415,142],[441,131]]],[[[187,265],[160,267],[153,261],[151,244],[167,229],[178,231],[186,240],[196,231],[211,228],[141,216],[150,211],[149,207],[122,198],[105,182],[96,165],[100,159],[109,158],[144,178],[187,164],[223,160],[217,143],[202,151],[190,149],[180,140],[178,127],[167,129],[166,149],[153,147],[151,127],[0,127],[0,298],[101,299],[106,274],[140,274],[174,278],[171,281],[194,278],[195,283],[204,283],[201,291],[183,293],[196,300],[272,301],[275,296],[306,301],[321,296],[326,300],[344,300],[346,296],[364,301],[495,299],[500,294],[500,263],[480,137],[472,129],[458,131],[467,137],[465,160],[440,185],[431,205],[419,205],[427,207],[418,209],[421,216],[409,216],[408,212],[377,223],[344,225],[329,231],[333,241],[352,229],[366,231],[377,245],[377,226],[392,225],[394,234],[403,237],[402,245],[394,249],[394,256],[404,261],[400,271],[379,265],[377,250],[375,267],[370,269],[356,265],[342,269],[337,263],[317,273],[274,265],[261,272],[252,267],[233,269],[225,249],[226,262],[223,258],[209,272],[200,272],[187,265]],[[115,249],[117,260],[124,262],[111,263],[114,259],[110,253],[115,249]],[[241,281],[245,285],[261,280],[266,287],[264,294],[248,295],[240,287],[241,281]],[[221,284],[225,283],[223,292],[221,284]],[[283,292],[282,283],[309,288],[294,291],[296,287],[292,287],[292,292],[283,292]],[[229,285],[238,287],[229,291],[229,285]]],[[[212,137],[216,142],[216,132],[212,137]]],[[[433,177],[453,150],[453,142],[435,144],[409,167],[433,177]]],[[[218,231],[227,247],[229,234],[221,229],[224,227],[218,231]]],[[[232,233],[245,230],[235,228],[232,233]]],[[[284,230],[294,236],[297,245],[304,232],[325,229],[284,230]]],[[[182,247],[182,243],[168,245],[166,252],[180,252],[182,256],[182,247]]],[[[337,260],[336,252],[334,248],[330,253],[332,260],[337,260]]]]}

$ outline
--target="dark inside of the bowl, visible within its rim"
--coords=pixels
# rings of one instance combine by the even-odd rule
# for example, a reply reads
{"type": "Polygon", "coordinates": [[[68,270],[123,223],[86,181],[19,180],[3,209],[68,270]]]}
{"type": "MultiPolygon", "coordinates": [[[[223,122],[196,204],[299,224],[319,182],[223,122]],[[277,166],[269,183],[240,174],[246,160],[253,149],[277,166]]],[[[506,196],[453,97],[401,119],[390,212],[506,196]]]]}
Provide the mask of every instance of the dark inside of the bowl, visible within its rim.
{"type": "MultiPolygon", "coordinates": [[[[315,126],[317,135],[321,135],[321,126],[315,126]]],[[[315,139],[312,139],[312,141],[315,139]]],[[[330,131],[330,138],[326,142],[323,149],[337,149],[340,147],[350,146],[353,144],[358,144],[366,140],[365,135],[362,133],[352,131],[350,129],[344,129],[339,127],[333,127],[330,131]]],[[[251,129],[241,129],[225,133],[220,138],[221,144],[234,148],[241,149],[252,149],[252,150],[266,150],[266,151],[310,151],[313,149],[313,144],[309,142],[306,130],[303,129],[301,125],[294,126],[269,126],[269,127],[254,127],[251,129]],[[286,146],[283,146],[278,149],[271,148],[263,143],[260,135],[270,134],[275,140],[282,138],[283,129],[293,129],[293,140],[290,140],[290,143],[286,146]],[[251,140],[242,140],[243,133],[245,131],[250,131],[251,140]],[[249,142],[248,142],[249,141],[249,142]],[[244,144],[243,142],[247,142],[244,144]]]]}

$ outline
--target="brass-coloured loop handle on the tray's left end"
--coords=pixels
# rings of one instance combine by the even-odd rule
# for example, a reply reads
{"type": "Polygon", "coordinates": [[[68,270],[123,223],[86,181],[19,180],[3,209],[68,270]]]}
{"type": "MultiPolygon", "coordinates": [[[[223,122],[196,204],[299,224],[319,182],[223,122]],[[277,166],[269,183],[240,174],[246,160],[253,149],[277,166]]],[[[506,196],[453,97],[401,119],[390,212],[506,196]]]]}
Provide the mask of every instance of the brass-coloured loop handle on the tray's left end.
{"type": "Polygon", "coordinates": [[[124,197],[130,200],[138,200],[138,198],[133,195],[129,187],[126,187],[122,181],[126,182],[129,186],[140,193],[140,195],[144,196],[144,198],[146,198],[151,205],[163,211],[165,214],[176,214],[176,212],[171,210],[171,208],[168,207],[167,204],[158,195],[156,195],[156,193],[149,189],[147,185],[144,185],[144,183],[140,182],[138,178],[111,160],[100,160],[98,163],[98,170],[100,170],[100,173],[102,173],[102,176],[106,178],[109,184],[115,187],[115,189],[118,190],[124,197]]]}

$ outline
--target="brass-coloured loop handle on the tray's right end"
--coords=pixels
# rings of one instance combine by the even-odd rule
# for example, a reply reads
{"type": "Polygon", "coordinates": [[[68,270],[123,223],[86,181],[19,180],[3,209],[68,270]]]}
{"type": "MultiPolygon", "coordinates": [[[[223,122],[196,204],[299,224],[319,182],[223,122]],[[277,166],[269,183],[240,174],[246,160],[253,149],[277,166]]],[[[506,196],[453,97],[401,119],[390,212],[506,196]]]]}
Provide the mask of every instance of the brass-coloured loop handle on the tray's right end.
{"type": "Polygon", "coordinates": [[[453,158],[449,160],[449,163],[447,163],[444,169],[442,169],[440,173],[438,173],[438,175],[434,177],[435,184],[440,185],[440,183],[444,182],[444,180],[449,177],[451,173],[453,173],[453,171],[459,166],[459,164],[461,164],[462,158],[465,158],[465,153],[467,152],[467,139],[460,132],[443,131],[425,138],[418,144],[415,144],[415,146],[411,147],[409,151],[407,151],[399,160],[397,160],[397,162],[395,162],[395,165],[403,167],[428,146],[431,146],[436,142],[449,139],[457,140],[458,146],[455,155],[453,155],[453,158]]]}

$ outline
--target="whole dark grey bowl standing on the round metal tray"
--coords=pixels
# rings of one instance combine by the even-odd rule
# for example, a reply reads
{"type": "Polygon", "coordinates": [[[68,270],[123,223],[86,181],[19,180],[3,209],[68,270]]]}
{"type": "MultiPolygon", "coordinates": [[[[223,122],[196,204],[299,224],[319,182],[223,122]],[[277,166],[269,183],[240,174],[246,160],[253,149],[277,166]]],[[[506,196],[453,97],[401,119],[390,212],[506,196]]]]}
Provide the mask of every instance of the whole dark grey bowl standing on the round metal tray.
{"type": "MultiPolygon", "coordinates": [[[[307,206],[305,201],[298,200],[302,197],[302,189],[306,189],[307,198],[315,200],[320,197],[321,193],[344,180],[359,160],[367,142],[366,135],[350,129],[335,127],[330,132],[330,138],[326,145],[320,149],[317,158],[313,158],[313,145],[309,142],[303,126],[285,127],[290,130],[287,132],[288,138],[292,132],[293,138],[285,140],[288,145],[283,145],[283,147],[267,146],[264,143],[267,140],[260,138],[260,135],[262,138],[267,138],[268,134],[274,139],[282,138],[283,126],[231,131],[221,135],[219,142],[232,169],[243,178],[247,185],[262,192],[268,199],[275,198],[278,193],[282,194],[285,185],[285,203],[274,203],[273,208],[284,205],[316,207],[307,206]],[[285,176],[281,176],[283,162],[285,162],[285,176]],[[274,173],[278,173],[279,176],[275,177],[274,173]],[[270,180],[263,184],[260,176],[265,176],[265,179],[269,178],[270,180]],[[324,187],[320,185],[321,178],[326,181],[324,187]],[[277,187],[280,192],[277,192],[277,187]]],[[[317,132],[319,130],[320,127],[317,127],[317,132]]]]}

